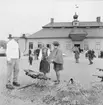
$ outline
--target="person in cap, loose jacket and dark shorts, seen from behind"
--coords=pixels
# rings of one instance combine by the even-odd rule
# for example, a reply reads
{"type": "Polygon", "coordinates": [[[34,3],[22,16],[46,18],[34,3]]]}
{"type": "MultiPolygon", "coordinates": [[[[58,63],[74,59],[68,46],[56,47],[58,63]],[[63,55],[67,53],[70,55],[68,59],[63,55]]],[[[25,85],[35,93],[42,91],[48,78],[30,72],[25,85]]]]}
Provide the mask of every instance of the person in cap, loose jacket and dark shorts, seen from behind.
{"type": "Polygon", "coordinates": [[[53,42],[54,49],[49,56],[49,61],[54,64],[54,70],[56,73],[57,80],[56,84],[60,83],[60,71],[63,70],[63,55],[62,51],[59,49],[59,43],[57,41],[53,42]]]}

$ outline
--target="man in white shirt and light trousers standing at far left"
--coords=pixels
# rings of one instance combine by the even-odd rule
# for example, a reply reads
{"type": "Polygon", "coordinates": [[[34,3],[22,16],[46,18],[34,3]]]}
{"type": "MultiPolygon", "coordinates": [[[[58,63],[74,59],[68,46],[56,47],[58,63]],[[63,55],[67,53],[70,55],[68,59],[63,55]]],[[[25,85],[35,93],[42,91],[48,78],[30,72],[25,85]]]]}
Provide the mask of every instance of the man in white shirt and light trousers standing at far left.
{"type": "Polygon", "coordinates": [[[6,88],[14,89],[14,86],[20,86],[17,82],[18,73],[19,73],[19,45],[16,39],[10,38],[9,42],[7,43],[7,84],[6,88]],[[11,83],[11,77],[13,73],[13,85],[11,83]]]}

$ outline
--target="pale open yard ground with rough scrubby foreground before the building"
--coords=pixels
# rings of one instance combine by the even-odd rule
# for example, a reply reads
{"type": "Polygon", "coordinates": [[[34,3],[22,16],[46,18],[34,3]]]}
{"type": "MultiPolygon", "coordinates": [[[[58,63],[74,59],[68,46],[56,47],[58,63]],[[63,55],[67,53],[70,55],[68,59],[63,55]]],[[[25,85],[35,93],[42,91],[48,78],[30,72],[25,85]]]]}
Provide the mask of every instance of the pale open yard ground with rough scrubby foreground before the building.
{"type": "MultiPolygon", "coordinates": [[[[88,62],[83,58],[83,60],[80,61],[81,64],[79,65],[75,64],[73,58],[69,58],[68,61],[67,59],[68,58],[65,58],[66,73],[63,71],[61,75],[61,83],[59,85],[55,85],[54,82],[49,80],[33,80],[32,78],[26,76],[23,69],[32,68],[35,69],[35,71],[38,71],[37,68],[39,66],[39,62],[35,61],[33,66],[30,67],[27,63],[27,58],[23,58],[20,61],[21,70],[19,75],[21,87],[27,84],[33,85],[22,89],[15,88],[11,91],[5,88],[7,69],[6,60],[5,58],[0,58],[0,105],[103,105],[103,84],[100,82],[93,82],[90,84],[91,79],[93,79],[93,81],[97,80],[93,78],[91,74],[95,73],[94,68],[100,66],[102,67],[102,60],[96,59],[94,65],[89,66],[88,62]],[[69,68],[72,70],[75,68],[77,71],[73,71],[71,74],[70,72],[67,72],[68,62],[70,63],[69,68]],[[83,71],[83,69],[86,69],[87,71],[83,71]],[[84,74],[79,75],[78,72],[84,72],[84,74]],[[72,77],[75,76],[75,84],[70,84],[68,82],[70,75],[72,75],[72,77]],[[85,78],[84,80],[81,80],[83,76],[88,77],[87,79],[85,78]],[[78,82],[79,80],[81,81],[78,82]],[[85,87],[86,85],[82,84],[85,81],[90,84],[89,87],[85,87]]],[[[55,79],[54,72],[51,72],[48,76],[50,76],[52,80],[55,79]]]]}

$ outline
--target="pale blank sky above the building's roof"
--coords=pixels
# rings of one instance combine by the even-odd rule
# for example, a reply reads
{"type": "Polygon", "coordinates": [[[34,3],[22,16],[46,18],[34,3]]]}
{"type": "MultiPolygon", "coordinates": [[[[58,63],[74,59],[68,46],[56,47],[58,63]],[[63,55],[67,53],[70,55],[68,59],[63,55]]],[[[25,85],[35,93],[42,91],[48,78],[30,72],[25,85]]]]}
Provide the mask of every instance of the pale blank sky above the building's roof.
{"type": "Polygon", "coordinates": [[[9,34],[33,34],[50,18],[71,22],[75,12],[79,21],[96,21],[100,16],[103,22],[103,0],[0,0],[0,40],[9,34]]]}

